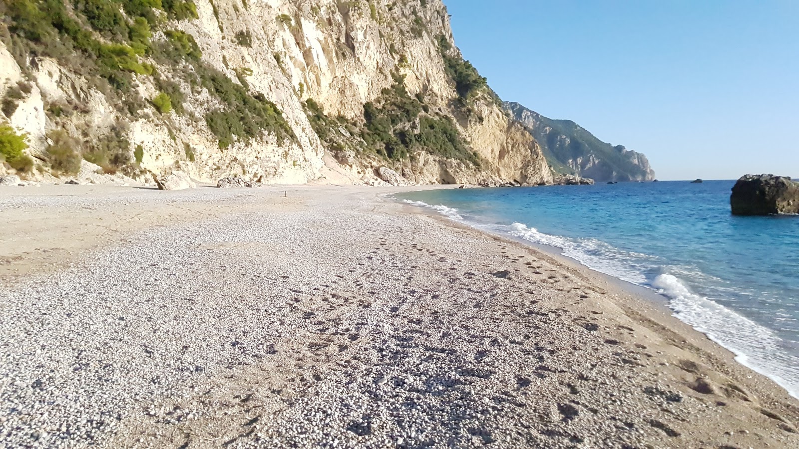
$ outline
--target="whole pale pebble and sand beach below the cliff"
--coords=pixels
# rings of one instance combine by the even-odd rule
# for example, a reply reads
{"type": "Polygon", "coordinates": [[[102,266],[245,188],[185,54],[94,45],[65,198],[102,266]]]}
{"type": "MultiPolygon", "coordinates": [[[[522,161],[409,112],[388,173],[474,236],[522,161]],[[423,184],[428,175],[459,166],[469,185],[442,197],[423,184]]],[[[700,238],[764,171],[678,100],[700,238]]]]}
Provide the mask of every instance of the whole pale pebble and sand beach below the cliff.
{"type": "Polygon", "coordinates": [[[0,188],[2,446],[799,447],[653,301],[387,192],[0,188]]]}

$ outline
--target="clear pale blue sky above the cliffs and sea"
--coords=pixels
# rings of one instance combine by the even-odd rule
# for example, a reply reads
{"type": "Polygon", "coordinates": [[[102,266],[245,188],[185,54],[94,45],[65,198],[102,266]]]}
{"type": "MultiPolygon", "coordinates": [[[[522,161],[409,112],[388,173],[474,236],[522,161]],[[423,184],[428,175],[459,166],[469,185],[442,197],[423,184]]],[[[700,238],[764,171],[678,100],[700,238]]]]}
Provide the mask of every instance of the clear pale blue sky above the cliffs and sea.
{"type": "Polygon", "coordinates": [[[661,180],[799,177],[799,0],[444,0],[499,96],[661,180]]]}

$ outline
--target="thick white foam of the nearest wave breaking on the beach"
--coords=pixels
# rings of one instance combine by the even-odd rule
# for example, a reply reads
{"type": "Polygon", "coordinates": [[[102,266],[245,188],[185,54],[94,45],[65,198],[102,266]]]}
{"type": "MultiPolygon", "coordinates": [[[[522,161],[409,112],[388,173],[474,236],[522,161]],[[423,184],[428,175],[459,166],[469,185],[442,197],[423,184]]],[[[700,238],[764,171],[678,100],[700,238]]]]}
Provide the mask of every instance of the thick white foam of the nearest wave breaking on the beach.
{"type": "Polygon", "coordinates": [[[799,357],[780,348],[782,339],[769,329],[690,291],[682,280],[662,274],[652,283],[670,300],[679,320],[735,354],[738,363],[773,379],[799,399],[799,357]]]}

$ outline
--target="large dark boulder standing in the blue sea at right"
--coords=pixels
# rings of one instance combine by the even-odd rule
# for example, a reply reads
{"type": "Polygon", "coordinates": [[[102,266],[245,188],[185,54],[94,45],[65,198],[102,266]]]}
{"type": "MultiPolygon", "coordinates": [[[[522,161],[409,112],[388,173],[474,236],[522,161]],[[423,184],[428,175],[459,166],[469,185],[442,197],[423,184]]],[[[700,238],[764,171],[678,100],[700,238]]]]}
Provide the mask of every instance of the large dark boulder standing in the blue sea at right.
{"type": "Polygon", "coordinates": [[[799,213],[799,182],[789,177],[745,175],[729,196],[733,215],[799,213]]]}

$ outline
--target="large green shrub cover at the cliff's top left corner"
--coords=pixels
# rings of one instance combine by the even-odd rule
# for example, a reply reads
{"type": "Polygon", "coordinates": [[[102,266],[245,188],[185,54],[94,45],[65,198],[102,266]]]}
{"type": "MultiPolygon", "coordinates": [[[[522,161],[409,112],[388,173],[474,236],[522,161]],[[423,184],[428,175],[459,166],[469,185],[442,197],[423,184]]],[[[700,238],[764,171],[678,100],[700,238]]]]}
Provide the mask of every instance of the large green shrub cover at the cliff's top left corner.
{"type": "Polygon", "coordinates": [[[0,12],[9,33],[2,40],[23,69],[29,54],[55,58],[101,91],[107,89],[97,81],[105,80],[132,98],[131,74],[153,74],[139,58],[150,50],[155,10],[176,20],[197,18],[194,3],[183,0],[6,0],[0,12]]]}

